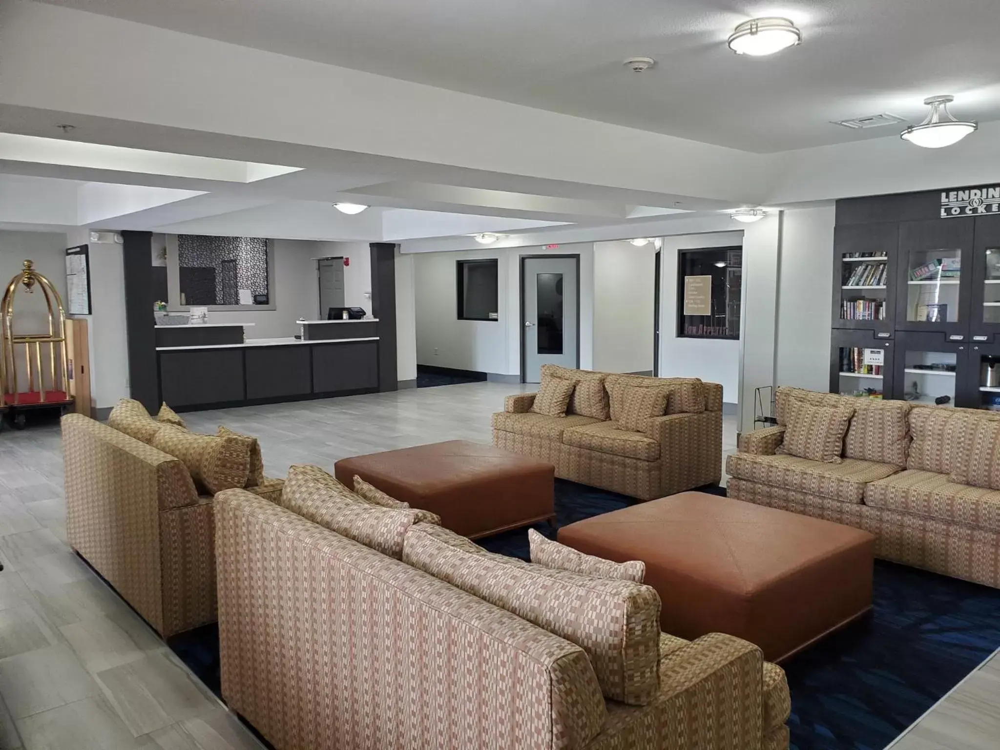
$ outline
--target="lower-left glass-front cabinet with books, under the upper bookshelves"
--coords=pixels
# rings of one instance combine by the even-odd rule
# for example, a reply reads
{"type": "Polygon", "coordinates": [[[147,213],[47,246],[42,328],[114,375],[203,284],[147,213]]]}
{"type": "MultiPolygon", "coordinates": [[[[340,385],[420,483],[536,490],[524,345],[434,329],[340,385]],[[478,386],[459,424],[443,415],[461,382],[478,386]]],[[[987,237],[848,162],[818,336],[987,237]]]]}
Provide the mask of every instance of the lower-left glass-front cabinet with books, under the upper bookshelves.
{"type": "Polygon", "coordinates": [[[830,392],[863,398],[893,398],[894,344],[874,331],[833,332],[830,392]]]}

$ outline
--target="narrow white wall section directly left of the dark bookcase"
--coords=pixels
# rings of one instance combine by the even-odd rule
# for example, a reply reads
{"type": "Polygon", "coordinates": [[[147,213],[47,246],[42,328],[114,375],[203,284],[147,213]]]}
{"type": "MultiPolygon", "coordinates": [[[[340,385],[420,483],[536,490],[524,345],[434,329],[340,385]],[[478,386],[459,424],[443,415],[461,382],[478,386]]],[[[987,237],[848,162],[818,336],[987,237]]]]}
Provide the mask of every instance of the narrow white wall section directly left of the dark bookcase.
{"type": "Polygon", "coordinates": [[[775,382],[830,387],[833,206],[785,211],[778,283],[775,382]]]}

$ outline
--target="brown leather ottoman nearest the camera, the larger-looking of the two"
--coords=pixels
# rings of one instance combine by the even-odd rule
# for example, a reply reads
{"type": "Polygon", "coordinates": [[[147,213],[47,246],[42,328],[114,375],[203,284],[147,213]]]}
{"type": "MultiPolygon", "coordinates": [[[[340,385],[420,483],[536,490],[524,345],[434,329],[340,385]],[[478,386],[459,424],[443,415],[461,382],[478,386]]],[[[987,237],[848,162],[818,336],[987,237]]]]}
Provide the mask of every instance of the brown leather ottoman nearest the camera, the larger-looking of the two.
{"type": "Polygon", "coordinates": [[[616,562],[642,560],[665,633],[720,632],[780,661],[872,605],[875,537],[703,492],[639,503],[559,530],[559,541],[616,562]]]}

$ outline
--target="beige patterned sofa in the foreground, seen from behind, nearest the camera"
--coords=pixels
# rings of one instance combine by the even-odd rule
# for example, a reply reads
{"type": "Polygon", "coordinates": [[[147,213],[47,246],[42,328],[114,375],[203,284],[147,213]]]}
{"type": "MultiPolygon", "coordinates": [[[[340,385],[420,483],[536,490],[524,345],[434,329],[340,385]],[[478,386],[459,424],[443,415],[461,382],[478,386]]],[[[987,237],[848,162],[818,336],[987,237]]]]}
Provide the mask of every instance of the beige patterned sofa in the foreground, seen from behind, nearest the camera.
{"type": "MultiPolygon", "coordinates": [[[[303,475],[313,488],[299,492],[299,468],[285,485],[288,507],[242,490],[215,502],[222,694],[276,750],[788,747],[787,683],[756,646],[659,634],[658,596],[632,582],[597,582],[597,603],[560,602],[556,572],[541,599],[576,614],[543,629],[447,580],[489,587],[492,566],[509,592],[540,566],[499,555],[480,565],[476,545],[396,506],[370,511],[380,514],[372,520],[361,507],[325,504],[316,477],[303,475]],[[599,609],[621,590],[647,605],[655,597],[635,629],[627,612],[611,615],[631,651],[652,638],[652,653],[639,656],[653,667],[608,687],[598,672],[621,653],[592,660],[585,647],[614,637],[599,609]],[[579,640],[556,635],[557,625],[578,628],[579,640]],[[606,698],[612,689],[635,705],[606,698]]],[[[639,607],[627,610],[632,622],[639,607]]]]}

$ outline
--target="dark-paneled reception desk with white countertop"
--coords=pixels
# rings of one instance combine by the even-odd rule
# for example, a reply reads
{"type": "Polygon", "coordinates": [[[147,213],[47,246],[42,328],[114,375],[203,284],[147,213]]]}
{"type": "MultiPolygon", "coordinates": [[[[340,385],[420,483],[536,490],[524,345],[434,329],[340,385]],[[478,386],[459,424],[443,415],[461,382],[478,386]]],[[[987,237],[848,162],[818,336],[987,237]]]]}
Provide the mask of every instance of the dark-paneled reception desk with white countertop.
{"type": "Polygon", "coordinates": [[[304,336],[316,338],[157,346],[160,398],[192,411],[374,393],[377,326],[374,320],[307,322],[304,336]],[[319,338],[327,332],[330,338],[319,338]]]}

